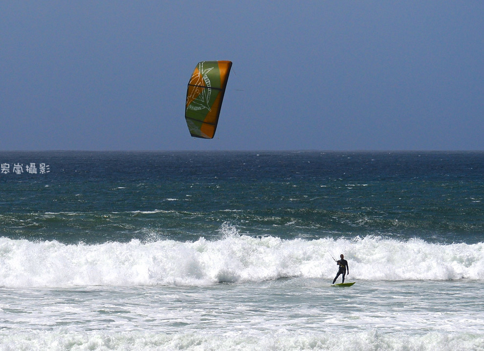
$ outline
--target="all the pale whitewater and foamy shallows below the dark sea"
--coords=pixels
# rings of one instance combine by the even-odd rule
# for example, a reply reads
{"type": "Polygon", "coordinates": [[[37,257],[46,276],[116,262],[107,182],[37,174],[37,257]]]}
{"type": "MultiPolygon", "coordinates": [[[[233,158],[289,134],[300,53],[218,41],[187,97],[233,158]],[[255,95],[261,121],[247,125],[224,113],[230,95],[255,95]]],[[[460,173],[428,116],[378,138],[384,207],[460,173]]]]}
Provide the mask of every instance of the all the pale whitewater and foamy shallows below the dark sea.
{"type": "Polygon", "coordinates": [[[0,349],[483,345],[482,243],[281,240],[233,230],[216,241],[193,242],[1,238],[0,349]],[[330,285],[336,271],[331,256],[340,252],[349,261],[347,281],[357,282],[352,288],[330,285]]]}

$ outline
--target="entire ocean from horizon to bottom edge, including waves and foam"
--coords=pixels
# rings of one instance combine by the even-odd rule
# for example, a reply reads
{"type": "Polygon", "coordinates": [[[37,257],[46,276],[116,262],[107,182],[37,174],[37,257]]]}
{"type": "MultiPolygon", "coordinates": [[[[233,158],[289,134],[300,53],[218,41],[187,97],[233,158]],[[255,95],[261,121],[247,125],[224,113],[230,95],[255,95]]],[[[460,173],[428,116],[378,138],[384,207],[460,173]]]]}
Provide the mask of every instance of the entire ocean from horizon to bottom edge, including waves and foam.
{"type": "Polygon", "coordinates": [[[0,165],[0,350],[484,350],[484,152],[0,165]]]}

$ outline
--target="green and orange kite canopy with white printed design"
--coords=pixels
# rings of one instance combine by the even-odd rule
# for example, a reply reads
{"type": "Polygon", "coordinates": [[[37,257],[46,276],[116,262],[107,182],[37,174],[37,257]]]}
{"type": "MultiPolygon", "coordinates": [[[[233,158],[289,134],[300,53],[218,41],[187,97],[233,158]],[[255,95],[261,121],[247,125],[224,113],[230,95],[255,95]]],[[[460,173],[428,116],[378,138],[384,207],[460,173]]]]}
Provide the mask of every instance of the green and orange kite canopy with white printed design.
{"type": "Polygon", "coordinates": [[[185,119],[192,136],[212,139],[232,62],[202,61],[188,82],[185,119]]]}

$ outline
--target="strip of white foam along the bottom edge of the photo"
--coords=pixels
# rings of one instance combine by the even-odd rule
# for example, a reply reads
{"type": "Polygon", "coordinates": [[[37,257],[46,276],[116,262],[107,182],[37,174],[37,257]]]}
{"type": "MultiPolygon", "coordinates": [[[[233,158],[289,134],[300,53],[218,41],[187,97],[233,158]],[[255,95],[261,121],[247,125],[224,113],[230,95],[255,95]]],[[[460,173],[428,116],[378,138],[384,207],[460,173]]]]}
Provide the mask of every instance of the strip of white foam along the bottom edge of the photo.
{"type": "Polygon", "coordinates": [[[346,334],[215,335],[210,333],[143,333],[108,331],[1,332],[1,350],[482,350],[482,334],[428,333],[380,334],[375,330],[346,334]]]}

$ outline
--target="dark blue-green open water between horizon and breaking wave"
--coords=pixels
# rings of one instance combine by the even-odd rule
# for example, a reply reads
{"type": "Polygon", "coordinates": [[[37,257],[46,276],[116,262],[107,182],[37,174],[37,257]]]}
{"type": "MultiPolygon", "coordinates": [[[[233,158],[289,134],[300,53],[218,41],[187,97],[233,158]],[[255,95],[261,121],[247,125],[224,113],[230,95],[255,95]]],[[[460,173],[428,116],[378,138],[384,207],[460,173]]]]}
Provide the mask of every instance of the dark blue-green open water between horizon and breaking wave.
{"type": "Polygon", "coordinates": [[[214,240],[229,224],[282,239],[483,241],[483,152],[2,152],[0,163],[11,239],[214,240]]]}

